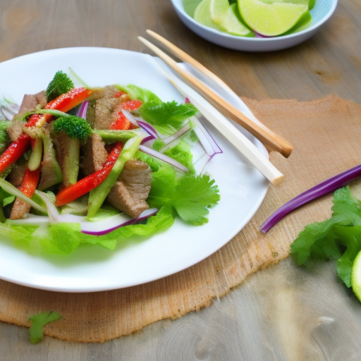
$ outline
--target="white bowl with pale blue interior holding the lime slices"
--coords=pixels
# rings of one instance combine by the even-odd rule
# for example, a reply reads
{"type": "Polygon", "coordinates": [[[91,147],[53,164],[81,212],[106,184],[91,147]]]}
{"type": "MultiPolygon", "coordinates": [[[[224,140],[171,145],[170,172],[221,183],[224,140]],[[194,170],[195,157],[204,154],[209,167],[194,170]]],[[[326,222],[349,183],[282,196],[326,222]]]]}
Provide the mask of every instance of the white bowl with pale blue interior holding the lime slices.
{"type": "Polygon", "coordinates": [[[197,23],[185,13],[182,0],[171,0],[176,13],[183,23],[200,37],[228,49],[243,51],[274,51],[293,47],[314,35],[334,13],[338,0],[317,0],[310,11],[312,23],[307,29],[280,37],[237,37],[197,23]]]}

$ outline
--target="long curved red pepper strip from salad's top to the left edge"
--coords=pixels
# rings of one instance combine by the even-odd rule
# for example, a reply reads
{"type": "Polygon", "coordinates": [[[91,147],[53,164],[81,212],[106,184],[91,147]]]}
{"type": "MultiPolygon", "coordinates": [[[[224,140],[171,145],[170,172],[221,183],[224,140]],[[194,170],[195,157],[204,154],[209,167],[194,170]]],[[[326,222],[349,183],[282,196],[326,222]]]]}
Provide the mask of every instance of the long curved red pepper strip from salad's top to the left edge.
{"type": "MultiPolygon", "coordinates": [[[[65,94],[61,94],[56,99],[49,102],[45,109],[56,109],[60,111],[69,111],[75,106],[83,102],[92,93],[91,90],[85,87],[72,89],[65,94]]],[[[29,121],[25,124],[26,127],[36,126],[40,119],[44,118],[49,122],[52,119],[50,114],[33,114],[29,121]]],[[[15,163],[27,149],[30,143],[30,136],[23,133],[18,140],[12,142],[6,151],[0,156],[0,173],[2,173],[8,166],[15,163]]]]}

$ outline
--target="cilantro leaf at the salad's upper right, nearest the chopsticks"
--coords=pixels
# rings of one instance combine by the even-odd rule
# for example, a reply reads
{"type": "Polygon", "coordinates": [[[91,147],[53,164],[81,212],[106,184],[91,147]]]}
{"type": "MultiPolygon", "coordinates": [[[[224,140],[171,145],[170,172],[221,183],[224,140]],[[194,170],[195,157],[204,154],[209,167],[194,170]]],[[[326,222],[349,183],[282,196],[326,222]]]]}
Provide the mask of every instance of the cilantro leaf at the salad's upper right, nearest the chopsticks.
{"type": "Polygon", "coordinates": [[[147,102],[140,109],[140,116],[160,133],[171,135],[175,130],[179,130],[185,121],[197,113],[197,109],[191,103],[178,104],[172,102],[147,102]]]}

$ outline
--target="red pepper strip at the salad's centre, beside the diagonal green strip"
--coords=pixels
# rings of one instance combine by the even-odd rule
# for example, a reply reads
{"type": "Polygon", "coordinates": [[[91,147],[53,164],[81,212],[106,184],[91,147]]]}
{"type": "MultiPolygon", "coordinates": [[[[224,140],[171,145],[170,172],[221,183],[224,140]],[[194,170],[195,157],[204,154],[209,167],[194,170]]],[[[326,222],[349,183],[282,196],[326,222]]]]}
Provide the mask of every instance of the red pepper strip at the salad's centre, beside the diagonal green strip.
{"type": "Polygon", "coordinates": [[[73,202],[73,200],[85,195],[102,183],[106,177],[109,176],[111,169],[121,154],[122,148],[123,145],[121,143],[116,143],[116,146],[109,153],[108,159],[106,159],[106,162],[100,171],[96,171],[95,173],[90,174],[90,176],[82,178],[77,183],[61,190],[55,197],[56,207],[61,207],[64,204],[73,202]]]}

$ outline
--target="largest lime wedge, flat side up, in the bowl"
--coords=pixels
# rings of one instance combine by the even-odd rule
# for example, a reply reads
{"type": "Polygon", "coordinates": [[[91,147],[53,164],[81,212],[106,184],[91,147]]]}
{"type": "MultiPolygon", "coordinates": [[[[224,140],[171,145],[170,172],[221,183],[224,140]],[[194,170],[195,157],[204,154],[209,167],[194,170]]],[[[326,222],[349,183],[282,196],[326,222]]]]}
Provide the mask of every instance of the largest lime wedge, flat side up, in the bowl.
{"type": "Polygon", "coordinates": [[[238,8],[245,23],[266,36],[287,32],[308,12],[305,4],[266,4],[259,0],[238,0],[238,8]]]}

